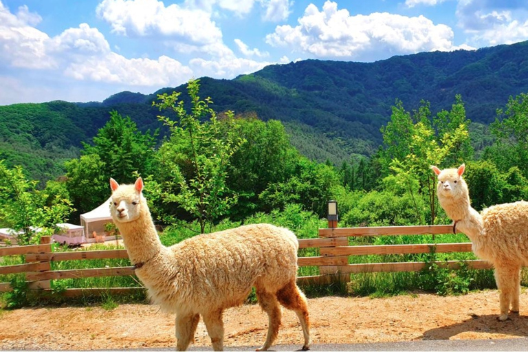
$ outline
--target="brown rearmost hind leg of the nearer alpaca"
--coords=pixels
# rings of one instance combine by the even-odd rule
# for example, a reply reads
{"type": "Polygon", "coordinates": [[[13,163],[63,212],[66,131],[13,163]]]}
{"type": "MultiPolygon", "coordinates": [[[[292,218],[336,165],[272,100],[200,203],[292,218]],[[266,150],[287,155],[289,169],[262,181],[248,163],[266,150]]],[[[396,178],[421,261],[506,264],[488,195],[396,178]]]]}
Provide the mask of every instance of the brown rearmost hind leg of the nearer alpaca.
{"type": "Polygon", "coordinates": [[[310,349],[310,319],[308,314],[308,303],[305,295],[297,287],[295,280],[290,281],[277,292],[277,299],[287,309],[292,309],[297,314],[300,326],[303,328],[305,344],[303,351],[310,349]]]}

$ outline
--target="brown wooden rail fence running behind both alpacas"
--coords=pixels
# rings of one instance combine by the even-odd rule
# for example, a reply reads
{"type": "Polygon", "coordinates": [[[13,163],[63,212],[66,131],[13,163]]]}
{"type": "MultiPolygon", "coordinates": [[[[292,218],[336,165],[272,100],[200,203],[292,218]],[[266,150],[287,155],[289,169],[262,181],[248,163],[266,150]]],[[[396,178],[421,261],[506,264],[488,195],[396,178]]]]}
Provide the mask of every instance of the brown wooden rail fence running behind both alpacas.
{"type": "MultiPolygon", "coordinates": [[[[352,273],[371,272],[415,272],[422,270],[426,263],[361,263],[349,264],[349,256],[370,254],[419,254],[471,252],[471,243],[437,243],[410,245],[349,245],[350,236],[396,236],[420,234],[445,234],[452,231],[451,225],[429,226],[393,226],[372,228],[327,228],[319,230],[316,239],[300,239],[299,248],[319,248],[320,256],[305,256],[298,258],[298,265],[317,266],[320,274],[317,276],[301,276],[300,285],[324,285],[340,279],[350,280],[352,273]]],[[[19,265],[0,266],[0,275],[25,273],[30,289],[50,290],[51,280],[66,278],[88,278],[100,276],[134,275],[133,267],[101,267],[80,270],[52,270],[54,261],[72,261],[83,259],[127,259],[126,250],[87,250],[78,252],[52,252],[50,237],[43,237],[40,245],[25,245],[10,248],[0,248],[0,257],[11,255],[25,256],[25,263],[19,265]]],[[[492,266],[485,261],[465,261],[472,269],[489,269],[492,266]]],[[[459,267],[459,261],[442,261],[440,267],[459,267]]],[[[133,292],[141,287],[118,287],[104,289],[66,289],[65,296],[82,296],[100,294],[102,292],[125,293],[133,292]]],[[[10,291],[9,283],[0,283],[0,292],[10,291]]]]}

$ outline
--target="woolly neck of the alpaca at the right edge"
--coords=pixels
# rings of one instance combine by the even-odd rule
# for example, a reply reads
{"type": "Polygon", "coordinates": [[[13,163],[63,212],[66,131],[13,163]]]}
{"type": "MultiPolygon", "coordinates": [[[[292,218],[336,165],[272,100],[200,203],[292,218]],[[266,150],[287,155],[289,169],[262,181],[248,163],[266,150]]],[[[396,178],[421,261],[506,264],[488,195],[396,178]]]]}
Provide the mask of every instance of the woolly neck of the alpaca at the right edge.
{"type": "Polygon", "coordinates": [[[442,197],[440,205],[448,217],[456,222],[456,230],[465,234],[472,242],[478,241],[484,225],[481,214],[470,205],[469,195],[442,197]]]}

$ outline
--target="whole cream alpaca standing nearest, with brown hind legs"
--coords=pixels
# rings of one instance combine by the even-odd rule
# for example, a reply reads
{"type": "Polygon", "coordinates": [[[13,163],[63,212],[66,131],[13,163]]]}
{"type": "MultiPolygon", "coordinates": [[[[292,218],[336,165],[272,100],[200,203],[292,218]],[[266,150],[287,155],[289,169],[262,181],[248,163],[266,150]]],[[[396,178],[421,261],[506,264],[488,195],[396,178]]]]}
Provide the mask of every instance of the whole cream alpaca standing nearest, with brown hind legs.
{"type": "Polygon", "coordinates": [[[296,285],[298,241],[274,225],[246,225],[201,234],[171,247],[159,241],[142,195],[143,181],[119,185],[110,179],[111,214],[135,273],[153,303],[176,314],[177,351],[194,340],[202,316],[214,351],[223,349],[223,310],[241,305],[256,288],[269,317],[266,351],[281,325],[281,303],[296,312],[309,349],[307,300],[296,285]]]}

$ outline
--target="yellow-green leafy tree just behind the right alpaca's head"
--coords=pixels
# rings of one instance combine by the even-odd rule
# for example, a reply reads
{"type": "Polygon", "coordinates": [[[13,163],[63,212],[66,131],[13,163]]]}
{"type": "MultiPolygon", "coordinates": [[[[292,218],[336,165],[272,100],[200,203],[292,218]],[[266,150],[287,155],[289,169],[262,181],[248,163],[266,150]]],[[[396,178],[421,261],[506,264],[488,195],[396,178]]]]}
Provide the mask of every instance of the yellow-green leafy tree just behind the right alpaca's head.
{"type": "Polygon", "coordinates": [[[436,217],[437,197],[436,179],[430,166],[443,165],[446,160],[462,163],[472,155],[467,132],[469,122],[465,120],[463,103],[457,97],[451,111],[437,114],[437,118],[433,119],[437,131],[430,122],[427,102],[422,101],[420,109],[412,115],[406,113],[399,104],[393,109],[391,122],[392,118],[395,118],[394,123],[389,123],[382,129],[385,144],[391,143],[385,145],[383,162],[397,176],[393,182],[410,194],[417,217],[421,219],[420,223],[425,223],[423,214],[428,213],[428,223],[432,224],[436,217]],[[407,133],[398,131],[401,126],[406,126],[407,133]],[[419,207],[419,197],[426,197],[428,211],[419,207]]]}

